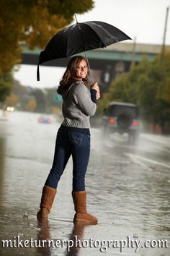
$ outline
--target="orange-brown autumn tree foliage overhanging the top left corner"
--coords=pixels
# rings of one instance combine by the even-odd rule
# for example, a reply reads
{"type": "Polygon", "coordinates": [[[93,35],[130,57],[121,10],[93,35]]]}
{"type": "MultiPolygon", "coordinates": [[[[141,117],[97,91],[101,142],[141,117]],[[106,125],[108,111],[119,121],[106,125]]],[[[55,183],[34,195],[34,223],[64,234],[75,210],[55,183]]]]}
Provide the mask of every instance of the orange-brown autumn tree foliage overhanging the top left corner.
{"type": "Polygon", "coordinates": [[[0,101],[10,91],[2,74],[21,62],[22,43],[44,48],[54,33],[73,21],[73,14],[93,5],[93,0],[0,0],[0,101]]]}

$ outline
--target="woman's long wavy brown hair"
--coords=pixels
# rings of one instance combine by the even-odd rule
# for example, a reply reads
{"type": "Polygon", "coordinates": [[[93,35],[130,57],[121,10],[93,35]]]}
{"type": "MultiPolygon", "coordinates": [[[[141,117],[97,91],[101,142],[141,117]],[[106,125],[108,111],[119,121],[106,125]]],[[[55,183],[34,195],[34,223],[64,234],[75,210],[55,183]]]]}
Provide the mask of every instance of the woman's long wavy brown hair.
{"type": "MultiPolygon", "coordinates": [[[[66,71],[63,74],[60,86],[58,87],[58,94],[62,94],[68,90],[69,86],[76,81],[76,68],[79,66],[80,62],[86,59],[82,56],[73,56],[70,61],[68,61],[66,71]]],[[[89,86],[89,69],[87,71],[86,77],[83,79],[86,87],[89,86]]]]}

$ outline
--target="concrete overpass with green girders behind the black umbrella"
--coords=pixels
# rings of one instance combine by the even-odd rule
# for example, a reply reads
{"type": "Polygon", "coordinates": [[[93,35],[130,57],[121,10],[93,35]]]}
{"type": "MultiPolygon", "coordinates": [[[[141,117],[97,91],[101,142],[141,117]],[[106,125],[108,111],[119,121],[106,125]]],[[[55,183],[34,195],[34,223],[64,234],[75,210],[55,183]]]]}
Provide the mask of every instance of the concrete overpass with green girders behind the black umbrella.
{"type": "MultiPolygon", "coordinates": [[[[166,48],[170,51],[170,46],[166,48]]],[[[40,48],[31,51],[24,46],[22,64],[36,65],[40,51],[40,48]]],[[[140,62],[143,56],[146,56],[148,61],[153,61],[158,54],[161,54],[161,45],[142,43],[115,43],[104,49],[86,52],[91,69],[96,70],[93,75],[103,83],[104,88],[107,88],[111,80],[115,80],[123,72],[128,72],[130,65],[140,62]]],[[[42,66],[66,67],[67,62],[68,59],[65,58],[55,59],[45,62],[42,66]]]]}

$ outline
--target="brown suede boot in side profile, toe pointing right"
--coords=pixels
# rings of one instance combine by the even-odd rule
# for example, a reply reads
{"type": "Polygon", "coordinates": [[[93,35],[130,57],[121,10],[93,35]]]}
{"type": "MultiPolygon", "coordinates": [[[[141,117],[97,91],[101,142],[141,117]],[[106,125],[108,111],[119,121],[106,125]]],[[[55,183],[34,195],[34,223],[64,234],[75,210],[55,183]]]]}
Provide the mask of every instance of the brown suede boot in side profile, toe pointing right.
{"type": "Polygon", "coordinates": [[[97,218],[86,212],[86,191],[73,191],[72,196],[76,211],[73,222],[97,224],[97,218]]]}

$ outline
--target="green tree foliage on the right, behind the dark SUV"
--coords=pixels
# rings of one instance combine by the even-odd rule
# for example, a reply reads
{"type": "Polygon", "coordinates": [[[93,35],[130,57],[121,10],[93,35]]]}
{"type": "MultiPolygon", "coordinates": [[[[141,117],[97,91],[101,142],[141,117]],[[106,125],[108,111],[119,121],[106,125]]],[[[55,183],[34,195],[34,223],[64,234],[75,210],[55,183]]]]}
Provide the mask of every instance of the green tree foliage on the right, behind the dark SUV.
{"type": "Polygon", "coordinates": [[[146,59],[131,67],[130,72],[112,82],[100,108],[110,101],[136,103],[140,116],[152,124],[170,123],[170,52],[164,60],[158,56],[153,62],[146,59]]]}

